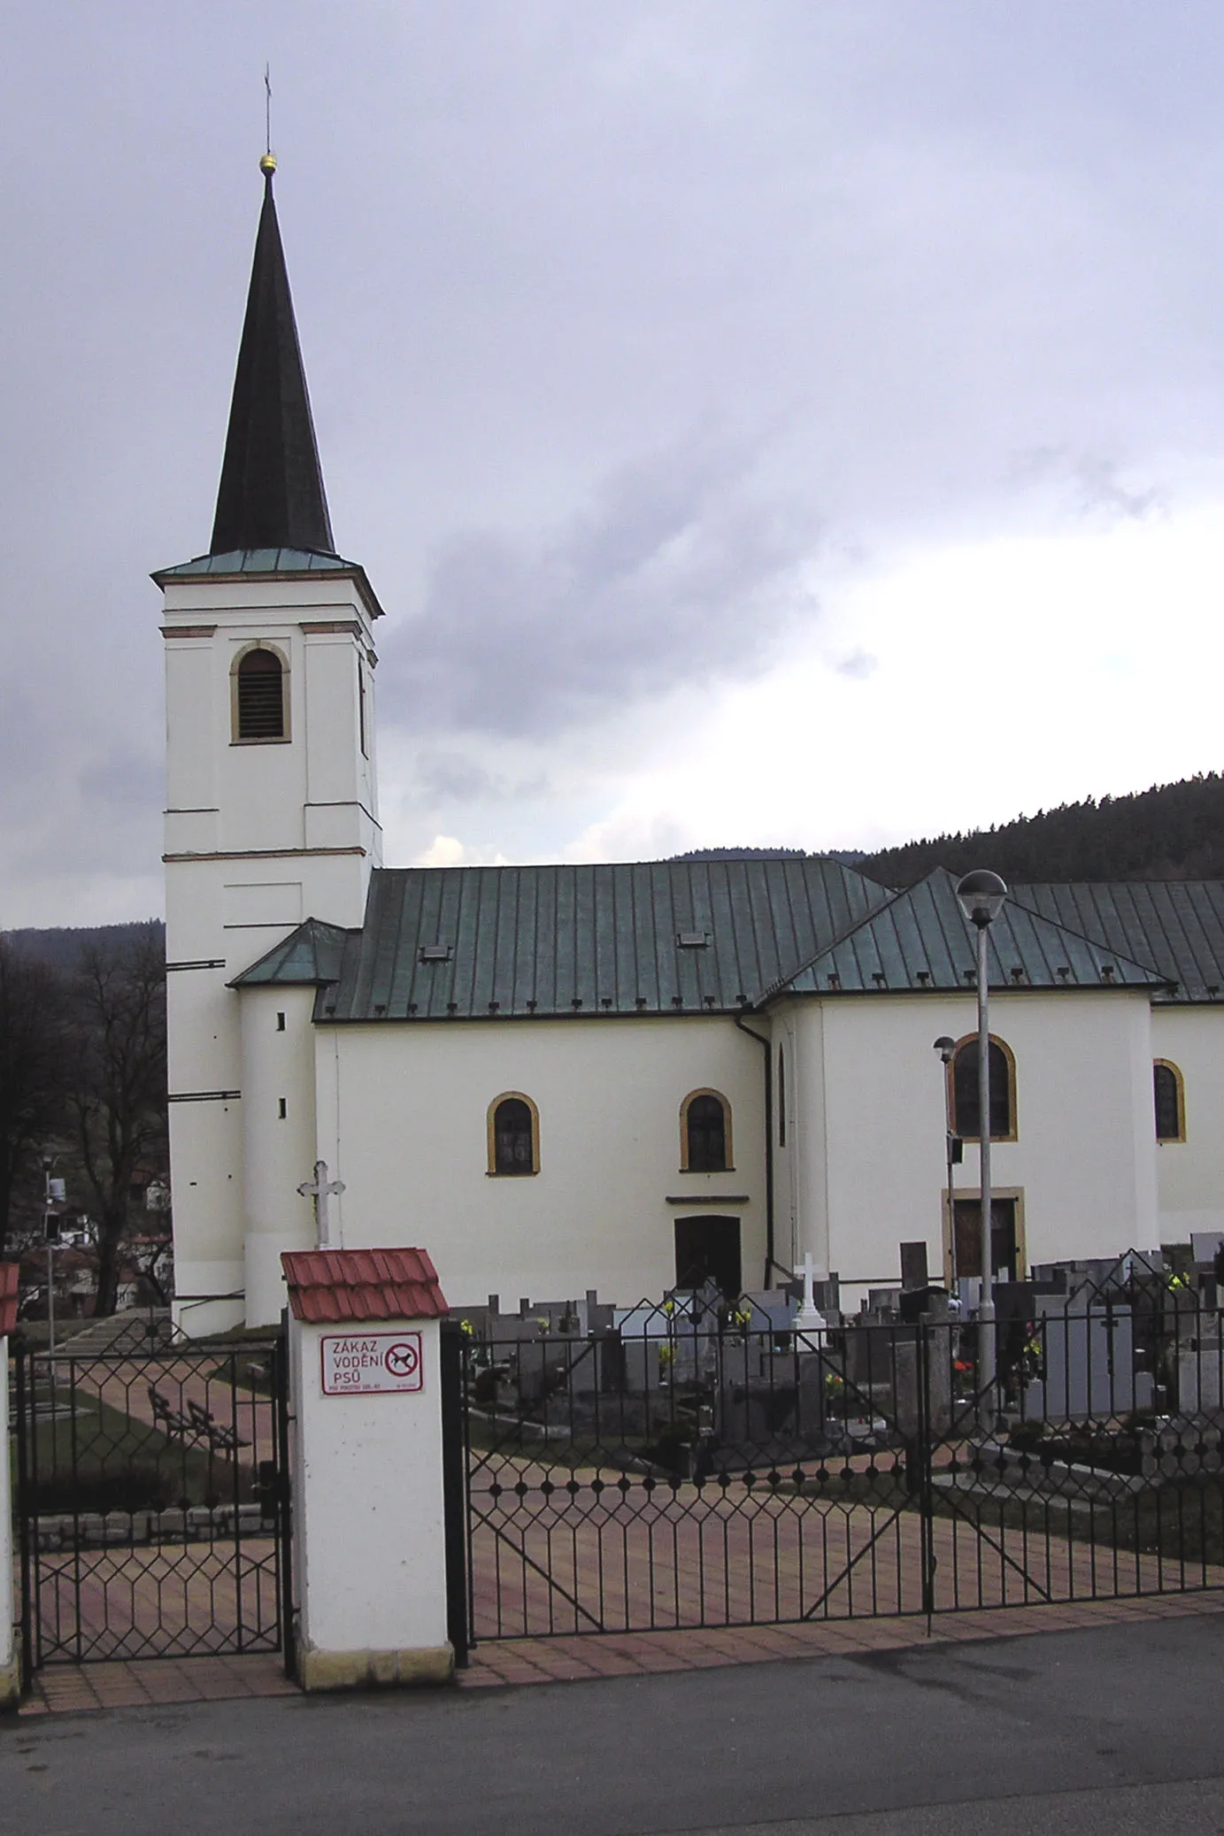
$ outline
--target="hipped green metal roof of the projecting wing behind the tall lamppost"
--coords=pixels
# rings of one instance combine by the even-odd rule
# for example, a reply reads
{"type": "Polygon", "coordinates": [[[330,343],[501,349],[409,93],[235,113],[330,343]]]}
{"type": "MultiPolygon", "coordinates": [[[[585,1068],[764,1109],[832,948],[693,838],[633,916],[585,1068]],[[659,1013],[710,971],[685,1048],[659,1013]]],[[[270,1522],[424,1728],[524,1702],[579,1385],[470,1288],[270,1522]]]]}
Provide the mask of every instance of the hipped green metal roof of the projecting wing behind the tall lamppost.
{"type": "MultiPolygon", "coordinates": [[[[897,892],[774,993],[949,993],[973,988],[976,938],[956,903],[956,881],[938,867],[897,892]]],[[[1162,973],[1114,946],[1044,918],[1011,896],[991,925],[989,979],[998,988],[1158,988],[1162,973]]]]}

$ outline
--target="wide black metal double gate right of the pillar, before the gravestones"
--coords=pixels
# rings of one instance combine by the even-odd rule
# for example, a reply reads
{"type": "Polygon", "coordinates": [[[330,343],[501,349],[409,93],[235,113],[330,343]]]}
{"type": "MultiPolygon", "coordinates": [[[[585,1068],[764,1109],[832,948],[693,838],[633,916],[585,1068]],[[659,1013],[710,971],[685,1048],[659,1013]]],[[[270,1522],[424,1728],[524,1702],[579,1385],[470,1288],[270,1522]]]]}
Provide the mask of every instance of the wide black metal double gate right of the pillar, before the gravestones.
{"type": "Polygon", "coordinates": [[[991,1384],[956,1320],[800,1335],[675,1296],[472,1331],[472,1640],[1224,1586],[1220,1315],[1127,1282],[1006,1320],[991,1384]]]}

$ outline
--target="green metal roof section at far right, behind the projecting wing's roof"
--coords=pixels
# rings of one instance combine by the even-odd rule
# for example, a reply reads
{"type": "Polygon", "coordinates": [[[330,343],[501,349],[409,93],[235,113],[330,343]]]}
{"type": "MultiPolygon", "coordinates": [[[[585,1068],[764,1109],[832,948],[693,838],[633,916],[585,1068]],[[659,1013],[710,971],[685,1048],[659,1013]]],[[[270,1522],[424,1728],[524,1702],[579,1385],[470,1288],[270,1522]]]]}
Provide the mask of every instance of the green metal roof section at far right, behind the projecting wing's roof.
{"type": "Polygon", "coordinates": [[[1224,995],[1224,881],[1140,879],[1013,887],[1013,898],[1112,949],[1152,962],[1176,990],[1158,1001],[1224,995]]]}

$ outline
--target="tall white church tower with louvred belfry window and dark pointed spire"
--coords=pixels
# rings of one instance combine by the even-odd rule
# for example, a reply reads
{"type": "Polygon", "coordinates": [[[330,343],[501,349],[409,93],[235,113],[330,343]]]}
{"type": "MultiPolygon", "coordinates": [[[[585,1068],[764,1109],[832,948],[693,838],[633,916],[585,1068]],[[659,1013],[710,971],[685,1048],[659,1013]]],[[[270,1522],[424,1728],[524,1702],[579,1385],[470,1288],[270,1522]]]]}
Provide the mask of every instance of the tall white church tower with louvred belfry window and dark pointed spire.
{"type": "Polygon", "coordinates": [[[261,169],[213,540],[207,554],[152,577],[165,597],[176,1318],[191,1335],[246,1316],[242,1036],[229,984],[305,918],[360,925],[382,859],[373,696],[382,608],[332,542],[275,160],[266,154],[261,169]]]}

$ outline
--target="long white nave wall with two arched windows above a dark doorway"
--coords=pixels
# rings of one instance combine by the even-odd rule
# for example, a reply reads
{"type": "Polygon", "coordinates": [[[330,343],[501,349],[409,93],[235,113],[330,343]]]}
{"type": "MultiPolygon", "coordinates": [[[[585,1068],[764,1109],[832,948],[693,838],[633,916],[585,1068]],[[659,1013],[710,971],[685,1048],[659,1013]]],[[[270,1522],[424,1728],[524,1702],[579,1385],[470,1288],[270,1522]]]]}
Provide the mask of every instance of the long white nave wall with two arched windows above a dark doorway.
{"type": "Polygon", "coordinates": [[[714,1212],[741,1219],[743,1282],[762,1285],[762,1058],[732,1021],[697,1015],[319,1026],[343,1247],[424,1243],[453,1305],[591,1287],[631,1304],[673,1283],[675,1219],[714,1212]],[[734,1171],[681,1173],[681,1102],[707,1087],[732,1105],[734,1171]],[[540,1111],[536,1175],[488,1175],[488,1105],[508,1091],[540,1111]]]}

